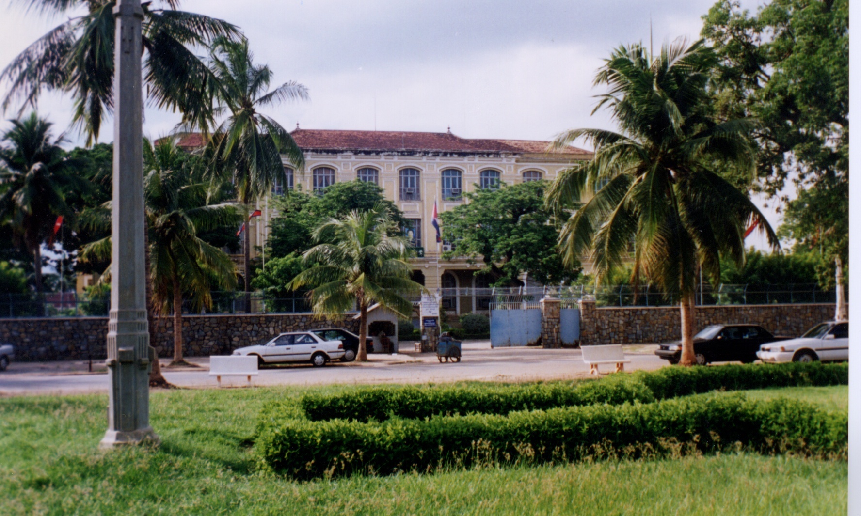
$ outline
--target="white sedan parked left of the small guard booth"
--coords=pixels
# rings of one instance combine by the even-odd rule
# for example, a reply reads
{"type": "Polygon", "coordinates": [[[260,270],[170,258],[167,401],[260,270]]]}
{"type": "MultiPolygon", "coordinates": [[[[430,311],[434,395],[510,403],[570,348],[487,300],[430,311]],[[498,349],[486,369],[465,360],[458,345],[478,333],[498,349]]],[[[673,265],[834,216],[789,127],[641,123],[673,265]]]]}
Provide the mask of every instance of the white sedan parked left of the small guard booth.
{"type": "Polygon", "coordinates": [[[256,356],[259,365],[310,361],[320,367],[344,356],[344,342],[324,341],[310,331],[300,331],[278,335],[265,344],[240,347],[233,354],[256,356]]]}

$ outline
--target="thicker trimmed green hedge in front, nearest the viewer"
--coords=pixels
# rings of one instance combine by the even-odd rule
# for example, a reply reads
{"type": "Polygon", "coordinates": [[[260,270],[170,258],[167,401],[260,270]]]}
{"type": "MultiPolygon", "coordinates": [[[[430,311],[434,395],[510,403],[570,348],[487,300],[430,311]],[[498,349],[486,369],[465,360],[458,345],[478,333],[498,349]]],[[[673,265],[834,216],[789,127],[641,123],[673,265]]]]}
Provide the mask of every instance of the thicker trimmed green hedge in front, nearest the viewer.
{"type": "Polygon", "coordinates": [[[394,474],[584,458],[746,450],[845,458],[846,412],[710,393],[654,403],[384,422],[307,421],[269,411],[257,453],[286,476],[394,474]]]}

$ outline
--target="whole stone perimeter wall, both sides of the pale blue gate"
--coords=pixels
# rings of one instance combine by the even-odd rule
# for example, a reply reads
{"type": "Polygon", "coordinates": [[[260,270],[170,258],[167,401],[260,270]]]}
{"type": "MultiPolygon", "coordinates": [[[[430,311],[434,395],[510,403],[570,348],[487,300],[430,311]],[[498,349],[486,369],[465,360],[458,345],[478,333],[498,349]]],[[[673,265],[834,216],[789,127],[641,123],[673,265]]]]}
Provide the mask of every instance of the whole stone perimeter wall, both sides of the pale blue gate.
{"type": "MultiPolygon", "coordinates": [[[[709,324],[749,322],[775,335],[801,335],[834,316],[833,304],[755,304],[698,306],[697,330],[709,324]]],[[[558,326],[558,315],[555,317],[558,326]]],[[[173,355],[173,318],[158,317],[151,344],[158,356],[173,355]]],[[[237,347],[268,341],[286,331],[339,327],[358,333],[358,321],[348,315],[339,320],[312,314],[234,314],[184,316],[185,355],[231,353],[237,347]]],[[[544,335],[558,335],[542,328],[544,335]]],[[[105,358],[107,317],[46,317],[0,319],[0,342],[15,346],[15,359],[65,360],[105,358]]],[[[681,338],[678,307],[596,308],[580,302],[580,344],[639,344],[681,338]]]]}

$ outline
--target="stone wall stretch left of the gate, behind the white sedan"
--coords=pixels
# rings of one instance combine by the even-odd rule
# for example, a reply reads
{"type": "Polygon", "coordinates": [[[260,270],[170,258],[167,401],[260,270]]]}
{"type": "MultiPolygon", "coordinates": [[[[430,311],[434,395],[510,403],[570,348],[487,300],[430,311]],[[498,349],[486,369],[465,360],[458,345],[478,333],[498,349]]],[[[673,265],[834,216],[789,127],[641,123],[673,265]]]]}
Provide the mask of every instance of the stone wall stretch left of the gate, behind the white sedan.
{"type": "MultiPolygon", "coordinates": [[[[158,317],[151,344],[158,356],[173,356],[173,317],[158,317]]],[[[242,346],[268,341],[286,331],[337,326],[358,333],[352,316],[338,321],[312,314],[251,314],[184,316],[185,356],[226,354],[242,346]]],[[[46,317],[0,319],[0,342],[15,346],[15,359],[104,359],[107,317],[46,317]]]]}

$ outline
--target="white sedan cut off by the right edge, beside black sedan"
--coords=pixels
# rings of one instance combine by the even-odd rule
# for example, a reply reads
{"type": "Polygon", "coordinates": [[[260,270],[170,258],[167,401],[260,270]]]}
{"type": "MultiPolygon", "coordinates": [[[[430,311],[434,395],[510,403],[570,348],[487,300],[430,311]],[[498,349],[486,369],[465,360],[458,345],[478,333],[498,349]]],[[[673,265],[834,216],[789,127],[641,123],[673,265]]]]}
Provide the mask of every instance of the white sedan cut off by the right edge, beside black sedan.
{"type": "Polygon", "coordinates": [[[763,344],[756,356],[771,364],[848,360],[849,322],[822,322],[797,339],[763,344]]]}

